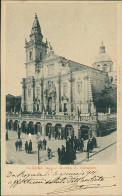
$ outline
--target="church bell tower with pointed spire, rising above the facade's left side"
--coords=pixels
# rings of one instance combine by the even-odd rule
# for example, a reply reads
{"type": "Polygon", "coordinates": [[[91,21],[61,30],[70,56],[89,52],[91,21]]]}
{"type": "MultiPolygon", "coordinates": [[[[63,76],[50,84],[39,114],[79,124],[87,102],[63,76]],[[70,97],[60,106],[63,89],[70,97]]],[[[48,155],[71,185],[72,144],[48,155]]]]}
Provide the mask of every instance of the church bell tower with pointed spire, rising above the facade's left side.
{"type": "Polygon", "coordinates": [[[26,50],[26,77],[35,77],[36,71],[41,67],[47,53],[48,43],[43,42],[43,35],[41,27],[38,21],[38,17],[35,14],[35,19],[32,25],[30,41],[25,40],[26,50]]]}

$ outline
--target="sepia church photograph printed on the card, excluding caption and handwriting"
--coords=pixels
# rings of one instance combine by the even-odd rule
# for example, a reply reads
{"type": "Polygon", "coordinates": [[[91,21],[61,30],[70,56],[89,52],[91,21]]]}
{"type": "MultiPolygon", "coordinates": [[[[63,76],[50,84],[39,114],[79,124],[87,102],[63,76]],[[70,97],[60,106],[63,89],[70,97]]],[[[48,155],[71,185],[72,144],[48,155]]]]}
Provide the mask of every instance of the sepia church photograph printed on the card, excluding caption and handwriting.
{"type": "Polygon", "coordinates": [[[117,5],[8,3],[6,164],[117,163],[117,5]]]}

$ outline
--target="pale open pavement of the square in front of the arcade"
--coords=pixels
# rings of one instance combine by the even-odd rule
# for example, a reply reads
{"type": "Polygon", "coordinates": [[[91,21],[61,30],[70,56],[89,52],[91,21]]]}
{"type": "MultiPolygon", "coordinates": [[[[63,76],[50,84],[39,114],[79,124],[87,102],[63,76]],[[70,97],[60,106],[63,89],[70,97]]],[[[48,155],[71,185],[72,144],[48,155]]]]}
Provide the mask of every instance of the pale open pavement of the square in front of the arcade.
{"type": "MultiPolygon", "coordinates": [[[[85,165],[85,164],[109,164],[113,162],[113,164],[116,162],[116,145],[113,144],[116,142],[116,134],[117,132],[113,132],[107,136],[104,137],[97,137],[97,148],[94,148],[93,151],[90,153],[89,161],[86,159],[86,146],[87,146],[87,140],[84,141],[84,152],[77,152],[74,164],[76,165],[85,165]],[[113,144],[113,145],[111,145],[113,144]],[[109,146],[110,145],[110,146],[109,146]],[[108,149],[106,149],[106,147],[108,149]],[[105,153],[107,155],[103,156],[105,153]],[[111,158],[108,158],[108,155],[111,158]],[[97,157],[97,158],[96,158],[97,157]],[[111,162],[110,162],[111,160],[111,162]]],[[[38,149],[37,149],[37,135],[26,135],[24,133],[21,133],[21,140],[23,143],[23,147],[21,151],[16,152],[15,148],[15,142],[18,139],[17,132],[13,130],[8,131],[8,137],[9,140],[6,141],[6,161],[10,164],[20,164],[20,165],[37,165],[38,164],[38,149]],[[24,146],[25,141],[32,140],[33,143],[33,151],[32,154],[27,154],[25,152],[24,146]]],[[[47,158],[47,150],[40,150],[40,165],[58,165],[58,154],[57,149],[61,148],[62,145],[65,146],[65,140],[58,140],[51,138],[51,140],[48,139],[46,136],[40,136],[40,139],[47,140],[47,148],[51,148],[52,150],[52,159],[47,158]]]]}

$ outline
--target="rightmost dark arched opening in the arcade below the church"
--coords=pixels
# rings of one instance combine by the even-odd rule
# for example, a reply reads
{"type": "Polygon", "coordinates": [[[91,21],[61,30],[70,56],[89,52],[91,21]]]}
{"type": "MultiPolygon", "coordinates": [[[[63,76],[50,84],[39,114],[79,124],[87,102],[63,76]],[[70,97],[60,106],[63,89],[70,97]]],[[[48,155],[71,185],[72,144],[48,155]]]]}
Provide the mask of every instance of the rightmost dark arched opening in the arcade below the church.
{"type": "Polygon", "coordinates": [[[87,140],[89,138],[90,127],[88,125],[82,125],[79,129],[79,138],[87,140]]]}

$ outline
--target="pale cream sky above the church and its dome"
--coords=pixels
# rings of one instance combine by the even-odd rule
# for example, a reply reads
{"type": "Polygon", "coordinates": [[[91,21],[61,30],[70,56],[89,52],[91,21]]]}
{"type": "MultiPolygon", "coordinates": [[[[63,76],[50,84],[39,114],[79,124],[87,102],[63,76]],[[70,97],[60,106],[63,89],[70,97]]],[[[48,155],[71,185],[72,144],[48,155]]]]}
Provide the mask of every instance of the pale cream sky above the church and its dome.
{"type": "Polygon", "coordinates": [[[8,3],[6,7],[6,94],[21,95],[25,77],[25,37],[29,41],[35,13],[43,41],[57,55],[92,66],[101,42],[116,70],[116,3],[8,3]]]}

